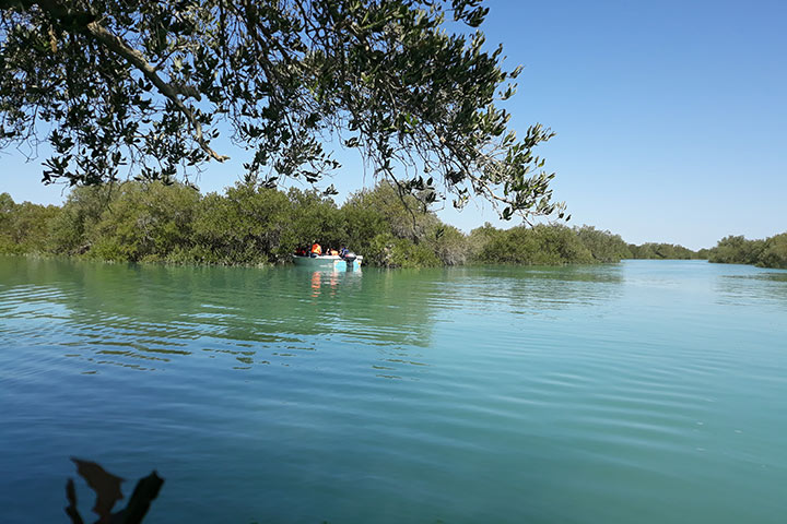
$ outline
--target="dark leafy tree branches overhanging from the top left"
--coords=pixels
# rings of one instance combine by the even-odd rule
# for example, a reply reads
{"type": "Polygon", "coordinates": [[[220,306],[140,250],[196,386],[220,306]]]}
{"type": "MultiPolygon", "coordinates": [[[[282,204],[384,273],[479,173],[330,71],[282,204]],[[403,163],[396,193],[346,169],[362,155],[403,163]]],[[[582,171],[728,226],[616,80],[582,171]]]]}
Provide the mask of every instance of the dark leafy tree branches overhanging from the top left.
{"type": "Polygon", "coordinates": [[[48,142],[45,182],[188,181],[226,158],[214,146],[226,132],[250,151],[248,179],[273,186],[339,167],[332,135],[425,202],[479,195],[505,218],[562,217],[533,153],[552,132],[517,139],[495,106],[518,68],[484,50],[486,12],[481,0],[0,0],[0,148],[48,142]]]}

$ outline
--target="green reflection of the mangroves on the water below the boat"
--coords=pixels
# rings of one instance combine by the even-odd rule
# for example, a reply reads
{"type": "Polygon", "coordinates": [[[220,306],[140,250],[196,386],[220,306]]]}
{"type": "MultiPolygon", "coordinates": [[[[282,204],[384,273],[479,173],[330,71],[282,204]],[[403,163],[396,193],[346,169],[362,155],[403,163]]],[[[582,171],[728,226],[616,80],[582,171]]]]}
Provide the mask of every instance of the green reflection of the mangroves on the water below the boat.
{"type": "Polygon", "coordinates": [[[428,347],[435,320],[420,281],[395,284],[387,272],[2,258],[0,282],[0,341],[64,347],[90,370],[157,370],[186,356],[232,357],[234,369],[248,370],[337,348],[376,361],[371,347],[428,347]]]}

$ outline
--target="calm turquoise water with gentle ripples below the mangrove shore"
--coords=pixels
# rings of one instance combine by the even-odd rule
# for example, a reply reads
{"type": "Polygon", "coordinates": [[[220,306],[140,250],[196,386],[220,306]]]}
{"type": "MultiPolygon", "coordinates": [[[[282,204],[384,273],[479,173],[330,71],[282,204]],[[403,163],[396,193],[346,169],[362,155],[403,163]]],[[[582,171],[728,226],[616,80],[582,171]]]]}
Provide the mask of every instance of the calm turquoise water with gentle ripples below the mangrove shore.
{"type": "Polygon", "coordinates": [[[8,523],[783,523],[787,272],[0,258],[0,410],[8,523]]]}

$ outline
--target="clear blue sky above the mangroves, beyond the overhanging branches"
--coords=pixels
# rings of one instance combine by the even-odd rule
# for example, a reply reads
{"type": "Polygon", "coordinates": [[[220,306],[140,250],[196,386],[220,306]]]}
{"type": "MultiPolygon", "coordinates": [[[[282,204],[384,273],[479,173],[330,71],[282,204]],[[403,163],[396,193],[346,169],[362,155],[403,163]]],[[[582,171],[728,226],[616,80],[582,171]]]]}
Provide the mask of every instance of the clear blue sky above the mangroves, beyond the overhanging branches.
{"type": "MultiPolygon", "coordinates": [[[[525,67],[505,106],[513,128],[541,122],[557,133],[538,153],[557,172],[569,224],[692,249],[787,231],[787,2],[486,5],[490,48],[503,44],[506,66],[525,67]]],[[[233,160],[200,177],[203,191],[239,177],[238,152],[227,153],[233,160]]],[[[357,158],[338,157],[342,201],[364,179],[357,158]]],[[[40,158],[0,154],[0,191],[17,202],[63,200],[40,172],[40,158]]],[[[441,216],[465,230],[508,224],[481,204],[441,216]]]]}

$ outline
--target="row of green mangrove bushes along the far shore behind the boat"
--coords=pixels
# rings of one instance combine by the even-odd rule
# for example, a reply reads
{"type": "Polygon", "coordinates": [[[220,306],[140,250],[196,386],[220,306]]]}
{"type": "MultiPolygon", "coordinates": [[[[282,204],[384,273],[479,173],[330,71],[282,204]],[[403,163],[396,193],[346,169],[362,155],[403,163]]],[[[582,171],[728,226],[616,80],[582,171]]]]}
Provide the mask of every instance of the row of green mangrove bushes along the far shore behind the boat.
{"type": "MultiPolygon", "coordinates": [[[[226,189],[224,194],[205,195],[178,183],[78,187],[62,206],[16,204],[8,193],[0,194],[0,253],[110,261],[278,263],[317,240],[324,247],[348,246],[367,263],[387,267],[590,264],[632,258],[710,257],[713,261],[732,262],[738,260],[727,254],[724,260],[714,257],[727,253],[725,247],[735,238],[739,237],[728,237],[713,250],[694,252],[668,243],[630,245],[619,235],[591,226],[497,229],[485,224],[466,235],[386,182],[352,194],[341,206],[316,191],[284,192],[245,183],[226,189]]],[[[776,243],[767,243],[773,239],[741,238],[744,246],[764,242],[754,262],[741,262],[780,261],[784,265],[787,241],[780,240],[778,251],[776,243]]],[[[735,253],[737,257],[738,251],[735,253]]]]}

